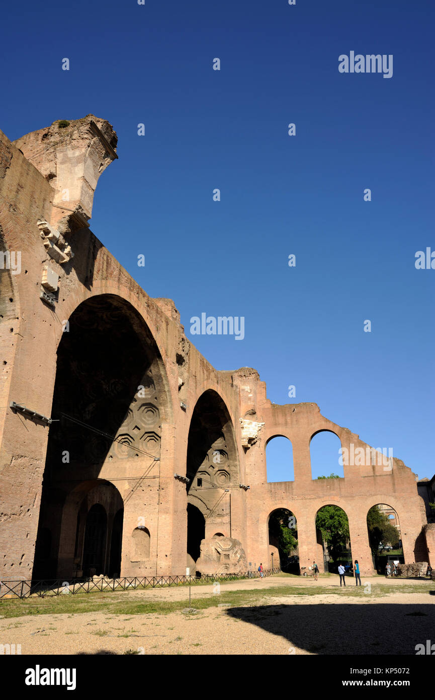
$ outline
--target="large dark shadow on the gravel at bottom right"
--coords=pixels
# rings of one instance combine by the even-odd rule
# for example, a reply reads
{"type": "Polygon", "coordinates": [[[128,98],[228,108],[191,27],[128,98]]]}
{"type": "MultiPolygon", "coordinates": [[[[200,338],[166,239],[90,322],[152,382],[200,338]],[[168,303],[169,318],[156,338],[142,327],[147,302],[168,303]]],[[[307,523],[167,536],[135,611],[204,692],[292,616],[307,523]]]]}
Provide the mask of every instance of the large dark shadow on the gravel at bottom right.
{"type": "Polygon", "coordinates": [[[259,605],[229,608],[227,615],[313,654],[415,654],[415,645],[435,643],[433,603],[259,605]]]}

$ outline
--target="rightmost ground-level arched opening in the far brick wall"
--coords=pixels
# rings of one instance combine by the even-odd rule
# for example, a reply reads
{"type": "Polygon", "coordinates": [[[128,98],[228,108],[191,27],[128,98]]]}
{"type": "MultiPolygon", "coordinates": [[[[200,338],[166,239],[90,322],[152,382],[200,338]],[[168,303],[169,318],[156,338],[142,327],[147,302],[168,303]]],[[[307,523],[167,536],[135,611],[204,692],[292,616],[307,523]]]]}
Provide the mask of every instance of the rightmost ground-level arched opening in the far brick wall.
{"type": "Polygon", "coordinates": [[[373,567],[378,573],[385,574],[390,562],[394,573],[394,566],[405,562],[397,512],[386,503],[372,505],[367,513],[367,530],[373,567]]]}

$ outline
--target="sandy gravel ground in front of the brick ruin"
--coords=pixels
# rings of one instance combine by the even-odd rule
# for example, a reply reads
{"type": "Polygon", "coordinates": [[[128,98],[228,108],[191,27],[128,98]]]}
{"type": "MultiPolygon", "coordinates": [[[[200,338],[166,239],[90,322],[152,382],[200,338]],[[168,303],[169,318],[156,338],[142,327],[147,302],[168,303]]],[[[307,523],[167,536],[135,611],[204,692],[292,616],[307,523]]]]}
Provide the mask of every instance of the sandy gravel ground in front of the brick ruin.
{"type": "MultiPolygon", "coordinates": [[[[271,577],[236,581],[221,592],[262,589],[254,605],[221,605],[192,614],[114,615],[113,612],[26,615],[0,619],[0,643],[21,645],[22,654],[415,654],[415,645],[435,643],[435,596],[404,590],[404,580],[373,578],[336,590],[335,578],[271,577]],[[394,585],[393,592],[376,596],[364,584],[394,585]],[[315,586],[331,594],[268,594],[272,587],[297,585],[307,594],[315,586]],[[336,594],[332,591],[336,590],[336,594]]],[[[131,591],[123,594],[143,601],[181,601],[183,588],[131,591]]],[[[213,585],[192,588],[192,597],[215,596],[213,585]]],[[[0,604],[1,618],[1,604],[0,604]]]]}

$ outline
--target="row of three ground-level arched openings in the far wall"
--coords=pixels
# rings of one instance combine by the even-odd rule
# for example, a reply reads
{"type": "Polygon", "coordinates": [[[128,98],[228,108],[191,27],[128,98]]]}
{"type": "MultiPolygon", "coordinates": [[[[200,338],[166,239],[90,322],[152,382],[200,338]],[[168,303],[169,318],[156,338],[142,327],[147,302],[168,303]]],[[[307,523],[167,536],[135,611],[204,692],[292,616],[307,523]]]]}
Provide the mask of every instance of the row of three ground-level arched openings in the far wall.
{"type": "MultiPolygon", "coordinates": [[[[389,559],[404,562],[399,516],[390,505],[376,503],[366,516],[367,533],[373,568],[383,573],[389,559]]],[[[299,536],[297,518],[287,508],[273,510],[268,517],[268,541],[270,566],[280,565],[288,573],[308,573],[299,568],[299,536]],[[275,556],[275,561],[273,557],[275,556]]],[[[351,568],[357,552],[353,552],[350,540],[348,516],[338,505],[323,505],[315,514],[316,551],[311,563],[316,561],[320,571],[336,573],[339,563],[351,568]]]]}

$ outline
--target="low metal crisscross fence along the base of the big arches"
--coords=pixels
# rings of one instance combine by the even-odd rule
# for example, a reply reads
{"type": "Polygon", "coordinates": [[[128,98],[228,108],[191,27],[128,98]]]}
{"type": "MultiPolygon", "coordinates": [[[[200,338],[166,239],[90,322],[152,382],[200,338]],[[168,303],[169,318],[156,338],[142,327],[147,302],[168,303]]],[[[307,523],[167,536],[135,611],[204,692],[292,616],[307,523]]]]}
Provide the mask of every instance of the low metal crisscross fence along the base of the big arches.
{"type": "MultiPolygon", "coordinates": [[[[271,576],[280,572],[280,568],[265,569],[264,576],[271,576]]],[[[215,583],[220,581],[238,581],[246,578],[259,578],[259,571],[245,571],[243,573],[205,574],[201,576],[126,576],[124,578],[92,577],[50,580],[6,580],[0,581],[0,600],[6,598],[28,598],[29,596],[62,596],[64,594],[94,593],[103,591],[127,591],[147,588],[165,588],[169,586],[198,585],[201,583],[215,583]]]]}

